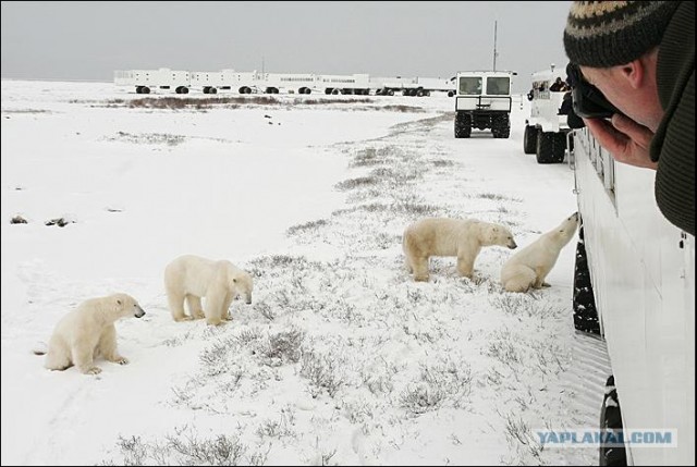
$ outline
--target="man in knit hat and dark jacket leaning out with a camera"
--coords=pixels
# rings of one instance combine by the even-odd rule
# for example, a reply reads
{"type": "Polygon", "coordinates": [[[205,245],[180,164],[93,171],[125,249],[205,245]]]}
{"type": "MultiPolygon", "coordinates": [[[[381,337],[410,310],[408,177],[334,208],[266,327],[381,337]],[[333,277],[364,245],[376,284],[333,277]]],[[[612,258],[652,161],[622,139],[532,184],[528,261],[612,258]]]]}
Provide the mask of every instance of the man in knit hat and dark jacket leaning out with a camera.
{"type": "Polygon", "coordinates": [[[573,2],[564,47],[622,113],[584,119],[619,162],[655,169],[665,218],[695,235],[695,4],[573,2]]]}

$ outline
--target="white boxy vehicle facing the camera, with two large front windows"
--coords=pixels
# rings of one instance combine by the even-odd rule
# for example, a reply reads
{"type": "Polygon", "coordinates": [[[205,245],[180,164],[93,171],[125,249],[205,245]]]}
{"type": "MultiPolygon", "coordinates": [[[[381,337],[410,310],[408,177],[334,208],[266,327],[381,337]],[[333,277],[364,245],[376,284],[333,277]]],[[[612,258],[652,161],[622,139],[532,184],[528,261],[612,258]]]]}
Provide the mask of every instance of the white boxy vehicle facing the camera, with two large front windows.
{"type": "Polygon", "coordinates": [[[494,138],[511,135],[511,77],[514,72],[460,72],[455,88],[455,137],[472,128],[491,128],[494,138]]]}

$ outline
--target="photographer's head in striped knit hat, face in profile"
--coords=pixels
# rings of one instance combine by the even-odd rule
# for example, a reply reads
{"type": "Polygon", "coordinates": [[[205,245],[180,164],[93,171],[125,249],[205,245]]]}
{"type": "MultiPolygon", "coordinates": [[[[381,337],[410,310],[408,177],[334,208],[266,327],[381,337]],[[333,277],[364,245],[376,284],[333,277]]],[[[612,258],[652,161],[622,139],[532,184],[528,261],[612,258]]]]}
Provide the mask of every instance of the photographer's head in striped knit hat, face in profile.
{"type": "Polygon", "coordinates": [[[656,85],[658,46],[680,2],[575,1],[564,48],[615,107],[656,131],[663,115],[656,85]]]}

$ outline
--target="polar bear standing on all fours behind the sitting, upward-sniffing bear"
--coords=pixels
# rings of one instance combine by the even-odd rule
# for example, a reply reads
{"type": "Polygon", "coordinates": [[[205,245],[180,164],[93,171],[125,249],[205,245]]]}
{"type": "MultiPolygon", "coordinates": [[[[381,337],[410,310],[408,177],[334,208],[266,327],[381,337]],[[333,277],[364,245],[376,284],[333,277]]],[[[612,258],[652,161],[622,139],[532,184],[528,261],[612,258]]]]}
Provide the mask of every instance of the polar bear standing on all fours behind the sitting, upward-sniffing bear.
{"type": "Polygon", "coordinates": [[[402,237],[406,268],[415,281],[428,281],[431,256],[456,256],[457,271],[472,279],[479,250],[491,245],[517,246],[506,226],[476,219],[426,218],[408,225],[402,237]]]}

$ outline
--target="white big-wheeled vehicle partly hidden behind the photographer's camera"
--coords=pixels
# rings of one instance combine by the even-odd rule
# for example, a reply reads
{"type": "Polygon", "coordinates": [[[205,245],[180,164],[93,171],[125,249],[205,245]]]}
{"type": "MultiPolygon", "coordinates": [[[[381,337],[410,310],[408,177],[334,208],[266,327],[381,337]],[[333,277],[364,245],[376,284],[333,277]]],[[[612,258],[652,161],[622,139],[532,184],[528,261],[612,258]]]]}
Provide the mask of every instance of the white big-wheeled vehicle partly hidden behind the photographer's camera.
{"type": "Polygon", "coordinates": [[[559,79],[565,84],[566,72],[551,65],[548,70],[533,73],[533,87],[527,95],[530,116],[525,120],[523,151],[537,155],[538,163],[563,162],[566,151],[566,114],[561,113],[567,87],[557,90],[559,79]]]}

